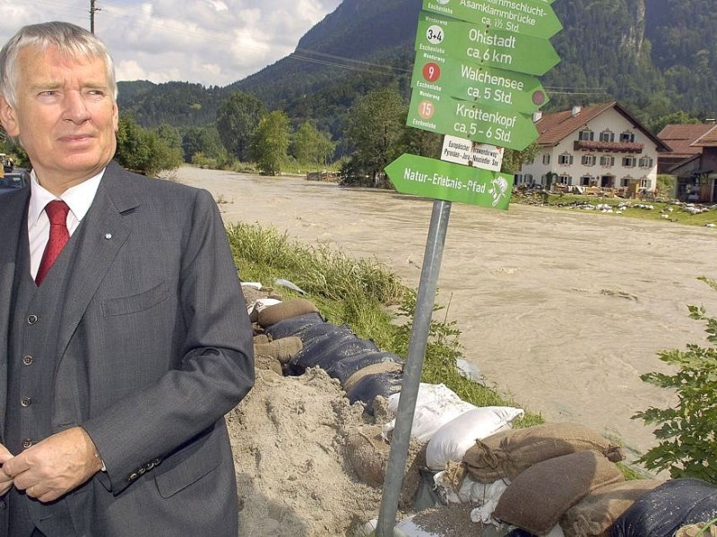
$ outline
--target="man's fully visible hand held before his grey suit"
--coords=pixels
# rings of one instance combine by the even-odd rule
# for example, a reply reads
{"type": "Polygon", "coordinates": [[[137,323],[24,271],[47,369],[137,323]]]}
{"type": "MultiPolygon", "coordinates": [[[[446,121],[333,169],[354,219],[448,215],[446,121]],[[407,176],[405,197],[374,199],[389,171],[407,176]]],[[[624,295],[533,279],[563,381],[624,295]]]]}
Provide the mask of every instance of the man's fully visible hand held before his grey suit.
{"type": "Polygon", "coordinates": [[[90,435],[82,427],[73,427],[9,459],[3,472],[30,498],[48,502],[76,489],[101,468],[102,461],[90,435]]]}

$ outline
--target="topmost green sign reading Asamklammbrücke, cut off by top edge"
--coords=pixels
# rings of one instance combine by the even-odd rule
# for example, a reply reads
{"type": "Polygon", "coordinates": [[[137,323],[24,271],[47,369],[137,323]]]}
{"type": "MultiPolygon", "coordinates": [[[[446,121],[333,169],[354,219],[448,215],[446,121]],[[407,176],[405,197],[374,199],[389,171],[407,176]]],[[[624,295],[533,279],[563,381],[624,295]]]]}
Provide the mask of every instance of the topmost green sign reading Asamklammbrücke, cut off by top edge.
{"type": "Polygon", "coordinates": [[[563,29],[553,9],[542,0],[423,0],[423,9],[483,28],[536,38],[552,38],[563,29]]]}

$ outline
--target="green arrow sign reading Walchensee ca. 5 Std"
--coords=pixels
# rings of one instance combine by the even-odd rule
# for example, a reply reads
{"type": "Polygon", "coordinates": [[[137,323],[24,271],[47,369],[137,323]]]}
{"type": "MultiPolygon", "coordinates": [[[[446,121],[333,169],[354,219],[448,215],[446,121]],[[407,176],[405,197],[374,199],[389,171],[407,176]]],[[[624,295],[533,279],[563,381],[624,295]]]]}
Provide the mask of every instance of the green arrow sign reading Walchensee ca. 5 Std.
{"type": "Polygon", "coordinates": [[[540,81],[531,74],[450,57],[439,63],[420,52],[413,64],[411,87],[523,114],[532,114],[549,101],[540,81]]]}

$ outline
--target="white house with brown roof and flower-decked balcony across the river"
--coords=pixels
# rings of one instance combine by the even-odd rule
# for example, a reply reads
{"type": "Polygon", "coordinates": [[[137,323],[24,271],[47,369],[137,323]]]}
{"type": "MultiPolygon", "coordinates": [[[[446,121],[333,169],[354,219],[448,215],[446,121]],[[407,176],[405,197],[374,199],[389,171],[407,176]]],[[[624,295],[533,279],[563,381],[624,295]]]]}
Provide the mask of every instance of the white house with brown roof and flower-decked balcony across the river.
{"type": "Polygon", "coordinates": [[[658,153],[669,146],[617,102],[538,112],[533,120],[540,133],[538,150],[515,175],[516,185],[620,195],[654,192],[658,153]]]}

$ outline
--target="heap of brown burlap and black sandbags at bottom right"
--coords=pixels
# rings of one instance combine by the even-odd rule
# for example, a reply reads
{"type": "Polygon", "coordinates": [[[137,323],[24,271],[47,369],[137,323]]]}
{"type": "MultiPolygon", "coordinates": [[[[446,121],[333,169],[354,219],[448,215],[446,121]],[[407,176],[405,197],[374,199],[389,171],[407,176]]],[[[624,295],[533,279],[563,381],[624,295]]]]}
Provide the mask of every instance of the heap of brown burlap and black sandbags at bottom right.
{"type": "Polygon", "coordinates": [[[507,527],[512,537],[673,537],[682,525],[709,520],[702,507],[704,498],[714,502],[713,486],[702,482],[688,495],[682,489],[695,487],[694,480],[680,483],[678,495],[677,480],[625,481],[615,464],[622,458],[619,447],[590,428],[546,423],[477,440],[460,462],[436,474],[436,487],[448,502],[478,506],[471,511],[475,522],[507,527]],[[659,498],[664,508],[655,507],[659,498]]]}

